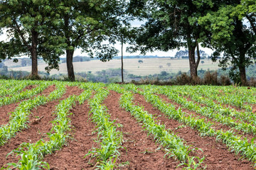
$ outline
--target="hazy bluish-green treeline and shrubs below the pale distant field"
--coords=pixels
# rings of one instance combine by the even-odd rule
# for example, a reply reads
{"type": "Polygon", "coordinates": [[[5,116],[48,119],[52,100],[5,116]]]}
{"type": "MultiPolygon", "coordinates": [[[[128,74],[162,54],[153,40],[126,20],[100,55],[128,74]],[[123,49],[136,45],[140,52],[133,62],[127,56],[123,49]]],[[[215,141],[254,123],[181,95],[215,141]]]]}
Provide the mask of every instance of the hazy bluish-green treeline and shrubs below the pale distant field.
{"type": "MultiPolygon", "coordinates": [[[[0,65],[1,66],[1,65],[0,65]]],[[[210,71],[205,69],[198,70],[198,78],[200,81],[197,83],[199,84],[207,84],[206,82],[210,82],[208,84],[213,85],[228,85],[228,84],[238,84],[239,83],[239,72],[236,71],[233,76],[229,76],[230,68],[223,70],[218,69],[216,71],[210,71]],[[215,81],[214,81],[215,79],[215,81]],[[218,80],[217,80],[218,79],[218,80]],[[223,83],[225,81],[225,83],[223,83]],[[217,83],[218,82],[218,83],[217,83]],[[229,83],[227,83],[229,82],[229,83]]],[[[50,75],[46,72],[39,72],[40,76],[43,79],[68,79],[67,75],[65,74],[54,74],[50,75]]],[[[121,81],[121,69],[106,69],[100,72],[92,73],[92,72],[77,72],[75,76],[80,81],[92,81],[92,82],[103,82],[103,83],[114,83],[121,81]]],[[[250,65],[247,67],[246,70],[247,80],[250,82],[255,81],[256,75],[256,64],[250,65]]],[[[0,75],[6,79],[25,79],[29,72],[23,71],[11,71],[7,72],[6,67],[0,68],[0,75]]],[[[191,81],[189,77],[189,72],[166,72],[162,71],[160,74],[150,74],[148,76],[139,76],[135,74],[129,74],[126,70],[124,70],[124,81],[125,82],[171,82],[171,84],[193,84],[195,82],[191,81]]],[[[252,84],[252,86],[255,86],[252,84]]]]}

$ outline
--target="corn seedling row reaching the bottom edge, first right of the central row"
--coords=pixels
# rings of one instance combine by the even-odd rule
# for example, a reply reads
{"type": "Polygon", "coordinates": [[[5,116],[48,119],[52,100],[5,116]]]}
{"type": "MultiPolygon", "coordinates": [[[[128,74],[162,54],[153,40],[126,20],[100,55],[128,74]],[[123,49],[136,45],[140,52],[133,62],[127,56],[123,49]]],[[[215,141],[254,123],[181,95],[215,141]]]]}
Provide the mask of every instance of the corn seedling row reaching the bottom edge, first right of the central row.
{"type": "Polygon", "coordinates": [[[111,84],[109,88],[122,94],[120,98],[120,106],[132,113],[134,118],[139,122],[143,123],[144,130],[146,130],[149,135],[152,135],[154,140],[164,147],[168,157],[178,159],[181,162],[179,166],[185,165],[186,169],[201,168],[201,164],[205,157],[200,159],[199,157],[190,157],[188,155],[190,152],[194,152],[197,148],[190,149],[191,146],[184,144],[183,140],[174,135],[173,132],[170,132],[170,130],[166,130],[165,125],[160,125],[159,122],[156,122],[154,116],[144,111],[142,106],[136,106],[132,102],[133,94],[131,92],[121,89],[120,86],[116,84],[111,84]]]}

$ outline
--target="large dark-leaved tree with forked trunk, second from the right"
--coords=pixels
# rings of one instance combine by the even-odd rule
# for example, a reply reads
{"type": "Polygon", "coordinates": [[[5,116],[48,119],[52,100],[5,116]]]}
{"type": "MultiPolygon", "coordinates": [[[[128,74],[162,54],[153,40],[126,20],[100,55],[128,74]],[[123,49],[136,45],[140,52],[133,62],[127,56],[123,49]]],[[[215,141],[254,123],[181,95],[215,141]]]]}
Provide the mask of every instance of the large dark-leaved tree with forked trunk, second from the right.
{"type": "Polygon", "coordinates": [[[140,17],[147,21],[138,30],[138,45],[134,50],[144,53],[187,47],[191,77],[196,79],[200,57],[198,56],[198,60],[195,59],[195,50],[201,35],[208,34],[198,25],[197,19],[204,16],[212,7],[211,1],[146,1],[145,13],[140,17]]]}

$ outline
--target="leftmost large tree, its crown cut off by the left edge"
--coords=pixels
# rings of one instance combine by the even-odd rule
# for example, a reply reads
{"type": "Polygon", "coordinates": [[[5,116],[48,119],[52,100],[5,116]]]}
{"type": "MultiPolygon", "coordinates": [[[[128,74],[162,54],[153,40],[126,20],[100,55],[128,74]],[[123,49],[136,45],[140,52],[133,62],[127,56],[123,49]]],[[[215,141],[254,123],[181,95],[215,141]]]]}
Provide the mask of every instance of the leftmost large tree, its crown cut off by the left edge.
{"type": "Polygon", "coordinates": [[[57,37],[52,37],[48,24],[55,18],[53,1],[9,0],[0,2],[0,28],[6,29],[8,42],[1,42],[1,59],[29,56],[32,61],[31,76],[38,77],[38,57],[43,57],[49,67],[58,68],[62,53],[57,37]],[[57,49],[57,50],[56,50],[57,49]]]}

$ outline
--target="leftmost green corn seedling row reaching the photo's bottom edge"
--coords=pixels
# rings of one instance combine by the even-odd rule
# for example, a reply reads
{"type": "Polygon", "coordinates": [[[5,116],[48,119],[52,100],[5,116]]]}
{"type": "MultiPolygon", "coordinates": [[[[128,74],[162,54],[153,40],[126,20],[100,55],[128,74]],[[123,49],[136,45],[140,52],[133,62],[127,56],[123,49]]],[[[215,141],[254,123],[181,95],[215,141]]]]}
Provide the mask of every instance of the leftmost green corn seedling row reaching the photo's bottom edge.
{"type": "MultiPolygon", "coordinates": [[[[75,86],[75,84],[69,85],[75,86]]],[[[67,143],[67,140],[71,137],[69,132],[73,129],[70,125],[70,118],[68,118],[68,115],[72,114],[70,109],[75,106],[76,101],[80,104],[84,103],[90,98],[91,94],[91,89],[85,89],[79,96],[73,95],[60,101],[53,112],[56,118],[53,120],[53,128],[47,133],[48,141],[41,139],[33,144],[23,143],[18,149],[11,152],[17,154],[21,159],[17,163],[9,163],[9,167],[12,166],[23,170],[50,169],[49,164],[42,161],[43,157],[46,154],[52,154],[56,150],[61,149],[67,143]]]]}

